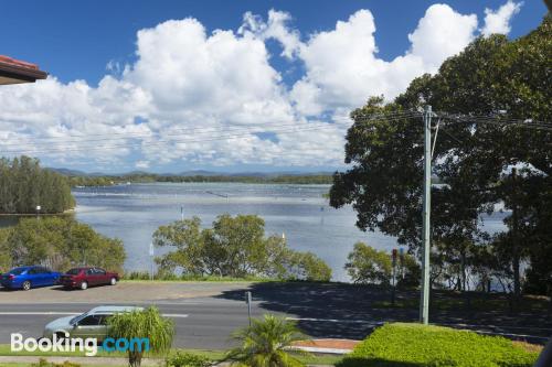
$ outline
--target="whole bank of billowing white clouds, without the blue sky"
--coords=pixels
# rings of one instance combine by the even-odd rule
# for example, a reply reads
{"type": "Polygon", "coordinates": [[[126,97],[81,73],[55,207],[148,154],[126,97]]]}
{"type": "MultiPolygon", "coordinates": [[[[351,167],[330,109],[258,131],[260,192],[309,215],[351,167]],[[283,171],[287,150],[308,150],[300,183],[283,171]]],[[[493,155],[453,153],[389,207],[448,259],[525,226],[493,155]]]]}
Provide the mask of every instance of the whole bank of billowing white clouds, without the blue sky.
{"type": "MultiPolygon", "coordinates": [[[[510,3],[487,18],[510,19],[519,10],[508,10],[510,3]]],[[[492,22],[500,23],[489,20],[486,28],[492,22]]],[[[114,75],[97,87],[55,77],[4,86],[0,151],[93,170],[174,162],[335,166],[342,162],[352,108],[372,95],[392,99],[414,77],[434,73],[477,32],[476,15],[435,4],[407,35],[408,50],[386,61],[378,55],[369,10],[302,39],[291,24],[291,15],[277,10],[266,21],[245,13],[235,32],[209,33],[192,18],[170,20],[140,30],[136,62],[109,62],[114,75]],[[269,39],[282,44],[282,57],[304,65],[293,85],[283,83],[286,71],[270,64],[269,39]],[[333,123],[311,130],[328,120],[333,123]],[[272,138],[248,133],[261,130],[272,138]]]]}

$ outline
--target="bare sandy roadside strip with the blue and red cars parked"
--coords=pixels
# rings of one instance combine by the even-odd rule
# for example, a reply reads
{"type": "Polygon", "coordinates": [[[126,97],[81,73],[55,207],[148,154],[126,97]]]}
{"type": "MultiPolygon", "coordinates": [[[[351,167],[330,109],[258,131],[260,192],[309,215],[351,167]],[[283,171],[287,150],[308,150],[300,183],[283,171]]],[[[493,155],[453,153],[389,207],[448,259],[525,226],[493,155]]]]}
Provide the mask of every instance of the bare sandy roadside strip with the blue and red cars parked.
{"type": "Polygon", "coordinates": [[[7,303],[136,303],[219,295],[244,289],[247,282],[147,282],[123,281],[116,285],[93,287],[85,291],[45,287],[30,291],[0,290],[0,304],[7,303]]]}

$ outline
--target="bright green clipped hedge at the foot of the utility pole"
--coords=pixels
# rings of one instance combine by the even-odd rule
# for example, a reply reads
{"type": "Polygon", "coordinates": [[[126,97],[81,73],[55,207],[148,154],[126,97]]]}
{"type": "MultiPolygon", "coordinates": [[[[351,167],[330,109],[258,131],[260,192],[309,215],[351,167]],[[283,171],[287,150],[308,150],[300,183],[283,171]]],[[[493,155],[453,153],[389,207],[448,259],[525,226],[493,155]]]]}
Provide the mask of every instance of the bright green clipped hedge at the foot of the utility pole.
{"type": "Polygon", "coordinates": [[[537,353],[511,341],[442,326],[394,323],[376,328],[338,367],[532,366],[537,353]]]}

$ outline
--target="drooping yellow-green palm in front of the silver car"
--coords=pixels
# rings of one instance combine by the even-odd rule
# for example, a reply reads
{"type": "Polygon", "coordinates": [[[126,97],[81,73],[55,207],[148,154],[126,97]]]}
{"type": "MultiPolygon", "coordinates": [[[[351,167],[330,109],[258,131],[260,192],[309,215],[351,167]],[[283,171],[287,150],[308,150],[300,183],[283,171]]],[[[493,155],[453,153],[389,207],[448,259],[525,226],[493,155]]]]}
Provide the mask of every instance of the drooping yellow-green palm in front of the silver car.
{"type": "MultiPolygon", "coordinates": [[[[149,352],[162,354],[170,349],[174,336],[174,324],[161,316],[159,310],[150,306],[146,310],[118,313],[108,320],[109,336],[114,338],[149,338],[149,352]]],[[[144,356],[141,348],[129,348],[128,364],[140,367],[144,356]]]]}

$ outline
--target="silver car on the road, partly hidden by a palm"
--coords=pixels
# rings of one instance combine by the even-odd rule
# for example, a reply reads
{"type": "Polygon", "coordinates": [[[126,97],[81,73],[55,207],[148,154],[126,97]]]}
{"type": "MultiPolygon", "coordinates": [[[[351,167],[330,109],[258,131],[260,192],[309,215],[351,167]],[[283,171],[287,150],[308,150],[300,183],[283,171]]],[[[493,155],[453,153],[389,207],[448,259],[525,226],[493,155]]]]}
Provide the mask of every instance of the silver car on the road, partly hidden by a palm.
{"type": "Polygon", "coordinates": [[[136,306],[99,306],[78,316],[65,316],[56,319],[44,326],[43,337],[52,339],[54,335],[59,338],[83,339],[95,337],[103,341],[108,335],[107,319],[116,313],[141,311],[136,306]]]}

